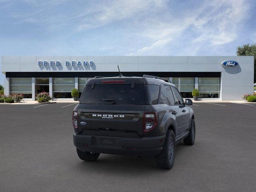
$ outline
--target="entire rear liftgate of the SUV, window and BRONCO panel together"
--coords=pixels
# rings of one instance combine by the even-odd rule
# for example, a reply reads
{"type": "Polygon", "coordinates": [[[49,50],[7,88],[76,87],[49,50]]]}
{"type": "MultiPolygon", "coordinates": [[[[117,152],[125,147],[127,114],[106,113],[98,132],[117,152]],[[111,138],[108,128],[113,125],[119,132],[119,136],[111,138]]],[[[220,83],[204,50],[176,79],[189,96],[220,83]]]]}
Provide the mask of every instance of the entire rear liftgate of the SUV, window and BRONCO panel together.
{"type": "Polygon", "coordinates": [[[93,136],[142,137],[144,110],[143,84],[86,85],[78,106],[78,131],[93,136]]]}

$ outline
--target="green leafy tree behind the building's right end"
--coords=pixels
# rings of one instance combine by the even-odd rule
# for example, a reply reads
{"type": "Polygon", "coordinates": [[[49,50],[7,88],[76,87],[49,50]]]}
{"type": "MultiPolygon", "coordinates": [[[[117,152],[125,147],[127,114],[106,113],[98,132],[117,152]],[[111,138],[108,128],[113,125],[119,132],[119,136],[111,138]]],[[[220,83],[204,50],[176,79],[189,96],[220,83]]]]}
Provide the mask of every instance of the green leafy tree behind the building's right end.
{"type": "Polygon", "coordinates": [[[236,48],[237,56],[254,56],[254,82],[256,82],[256,44],[246,44],[236,48]]]}

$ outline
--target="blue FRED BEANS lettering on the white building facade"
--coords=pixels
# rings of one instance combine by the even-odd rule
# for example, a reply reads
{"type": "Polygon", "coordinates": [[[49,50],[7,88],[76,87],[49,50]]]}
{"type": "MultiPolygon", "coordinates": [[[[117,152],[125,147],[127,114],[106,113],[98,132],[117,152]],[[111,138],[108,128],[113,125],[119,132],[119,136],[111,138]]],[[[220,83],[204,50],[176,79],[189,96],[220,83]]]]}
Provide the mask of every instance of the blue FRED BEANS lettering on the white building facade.
{"type": "Polygon", "coordinates": [[[38,61],[39,67],[60,67],[60,66],[66,66],[66,67],[94,67],[95,64],[93,61],[66,61],[64,64],[62,64],[60,61],[38,61]]]}

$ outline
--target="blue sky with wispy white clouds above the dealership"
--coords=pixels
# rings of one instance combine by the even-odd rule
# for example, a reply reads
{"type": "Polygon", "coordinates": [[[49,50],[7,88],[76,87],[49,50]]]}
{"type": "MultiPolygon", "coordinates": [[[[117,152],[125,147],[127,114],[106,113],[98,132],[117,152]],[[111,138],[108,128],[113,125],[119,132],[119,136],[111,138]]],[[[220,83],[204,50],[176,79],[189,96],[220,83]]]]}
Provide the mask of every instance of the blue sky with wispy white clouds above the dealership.
{"type": "Polygon", "coordinates": [[[0,55],[234,56],[256,43],[255,10],[255,0],[0,0],[0,55]]]}

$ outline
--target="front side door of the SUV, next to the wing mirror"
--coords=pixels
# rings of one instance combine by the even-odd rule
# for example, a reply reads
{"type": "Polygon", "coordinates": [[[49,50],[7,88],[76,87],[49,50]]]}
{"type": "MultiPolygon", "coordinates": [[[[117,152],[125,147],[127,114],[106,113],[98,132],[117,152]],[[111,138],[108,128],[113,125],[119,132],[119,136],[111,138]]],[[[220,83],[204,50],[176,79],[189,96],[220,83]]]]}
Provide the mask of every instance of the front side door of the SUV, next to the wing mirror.
{"type": "Polygon", "coordinates": [[[184,100],[176,87],[172,87],[175,105],[181,109],[182,112],[182,132],[186,131],[189,127],[189,119],[190,119],[190,110],[184,104],[184,100]]]}

